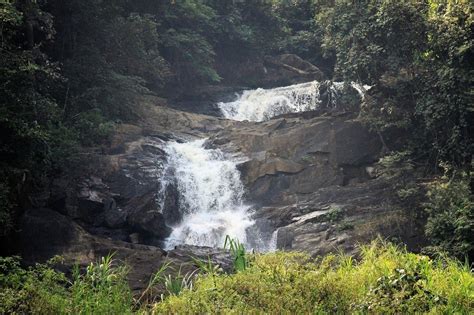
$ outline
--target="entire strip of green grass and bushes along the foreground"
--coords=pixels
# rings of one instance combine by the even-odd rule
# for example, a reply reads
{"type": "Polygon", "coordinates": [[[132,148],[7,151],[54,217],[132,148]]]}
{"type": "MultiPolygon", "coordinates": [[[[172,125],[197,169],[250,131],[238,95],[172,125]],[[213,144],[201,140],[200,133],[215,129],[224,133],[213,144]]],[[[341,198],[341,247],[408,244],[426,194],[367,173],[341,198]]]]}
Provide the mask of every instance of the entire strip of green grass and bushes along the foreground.
{"type": "Polygon", "coordinates": [[[234,252],[235,273],[207,262],[199,274],[150,281],[163,293],[133,298],[126,269],[110,257],[72,278],[46,265],[23,269],[0,261],[0,313],[189,314],[189,313],[375,313],[472,314],[474,276],[449,258],[431,260],[377,241],[361,248],[360,259],[277,252],[246,257],[234,252]],[[240,258],[239,258],[240,257],[240,258]],[[158,295],[159,296],[159,295],[158,295]]]}

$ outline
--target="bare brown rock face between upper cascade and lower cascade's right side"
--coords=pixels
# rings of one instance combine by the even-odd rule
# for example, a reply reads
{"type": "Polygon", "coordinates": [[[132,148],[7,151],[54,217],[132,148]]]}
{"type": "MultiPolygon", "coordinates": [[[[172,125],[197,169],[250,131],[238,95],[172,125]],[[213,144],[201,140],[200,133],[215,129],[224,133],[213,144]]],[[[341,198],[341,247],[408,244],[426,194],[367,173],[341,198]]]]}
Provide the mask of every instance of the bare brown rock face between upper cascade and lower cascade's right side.
{"type": "Polygon", "coordinates": [[[354,169],[364,173],[382,147],[376,135],[347,117],[242,123],[212,140],[250,157],[241,170],[252,199],[259,203],[343,185],[351,180],[354,169]]]}

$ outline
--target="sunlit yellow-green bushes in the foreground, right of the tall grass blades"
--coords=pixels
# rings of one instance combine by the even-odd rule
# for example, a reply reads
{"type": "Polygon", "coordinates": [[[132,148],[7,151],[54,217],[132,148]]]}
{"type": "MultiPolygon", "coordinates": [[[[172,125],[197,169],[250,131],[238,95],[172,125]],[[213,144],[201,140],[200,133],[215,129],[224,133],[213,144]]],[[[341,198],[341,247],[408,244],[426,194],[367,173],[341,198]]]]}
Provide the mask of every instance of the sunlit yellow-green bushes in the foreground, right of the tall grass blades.
{"type": "Polygon", "coordinates": [[[321,261],[302,253],[255,255],[242,272],[201,276],[193,290],[154,313],[461,313],[474,310],[474,277],[452,260],[433,261],[390,244],[321,261]]]}

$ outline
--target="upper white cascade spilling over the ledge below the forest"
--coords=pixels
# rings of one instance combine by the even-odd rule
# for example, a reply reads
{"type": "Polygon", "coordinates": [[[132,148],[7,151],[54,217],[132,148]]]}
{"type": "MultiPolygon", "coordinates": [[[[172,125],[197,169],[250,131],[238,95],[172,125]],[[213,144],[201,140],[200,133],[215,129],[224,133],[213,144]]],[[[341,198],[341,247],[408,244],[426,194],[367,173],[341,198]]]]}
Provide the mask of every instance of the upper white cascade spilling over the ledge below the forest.
{"type": "MultiPolygon", "coordinates": [[[[320,86],[318,81],[294,84],[274,89],[256,89],[243,91],[235,101],[220,102],[218,107],[223,116],[233,120],[265,121],[274,116],[305,112],[318,109],[321,105],[320,86]]],[[[364,97],[370,86],[351,82],[350,86],[364,97]]],[[[328,86],[330,103],[342,92],[344,82],[331,82],[328,86]]]]}

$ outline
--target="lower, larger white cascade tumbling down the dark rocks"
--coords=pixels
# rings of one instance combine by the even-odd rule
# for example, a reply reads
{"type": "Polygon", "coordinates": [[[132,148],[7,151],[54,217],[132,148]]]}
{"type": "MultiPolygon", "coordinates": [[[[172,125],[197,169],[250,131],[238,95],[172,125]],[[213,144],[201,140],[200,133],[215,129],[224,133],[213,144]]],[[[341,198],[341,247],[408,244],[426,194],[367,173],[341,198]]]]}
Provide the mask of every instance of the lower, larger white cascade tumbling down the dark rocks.
{"type": "Polygon", "coordinates": [[[248,244],[247,229],[254,221],[243,203],[237,161],[218,149],[204,148],[204,143],[169,142],[165,147],[183,214],[166,240],[168,249],[179,244],[222,247],[226,235],[248,244]]]}

